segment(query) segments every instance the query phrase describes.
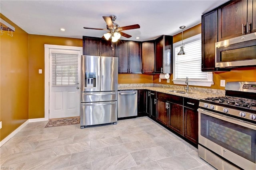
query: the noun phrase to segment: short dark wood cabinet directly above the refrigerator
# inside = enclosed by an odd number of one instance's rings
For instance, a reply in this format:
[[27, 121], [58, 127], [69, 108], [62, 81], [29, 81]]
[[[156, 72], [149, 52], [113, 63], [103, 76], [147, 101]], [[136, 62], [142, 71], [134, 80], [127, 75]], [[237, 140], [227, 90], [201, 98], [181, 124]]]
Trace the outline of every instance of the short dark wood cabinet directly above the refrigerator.
[[114, 57], [111, 41], [96, 37], [83, 36], [83, 55]]

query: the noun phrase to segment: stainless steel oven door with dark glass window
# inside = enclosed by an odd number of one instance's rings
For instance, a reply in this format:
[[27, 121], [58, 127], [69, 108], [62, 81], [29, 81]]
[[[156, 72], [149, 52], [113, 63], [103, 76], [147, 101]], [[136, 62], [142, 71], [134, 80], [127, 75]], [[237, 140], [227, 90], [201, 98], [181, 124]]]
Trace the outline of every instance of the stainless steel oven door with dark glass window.
[[198, 114], [199, 145], [243, 169], [256, 169], [255, 125], [200, 108]]

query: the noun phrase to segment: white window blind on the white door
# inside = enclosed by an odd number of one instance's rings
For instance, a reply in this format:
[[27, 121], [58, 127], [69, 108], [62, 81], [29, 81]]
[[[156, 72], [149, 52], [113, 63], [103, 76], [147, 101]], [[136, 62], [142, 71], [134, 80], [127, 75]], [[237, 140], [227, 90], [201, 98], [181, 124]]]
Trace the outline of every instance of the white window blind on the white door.
[[51, 53], [52, 86], [78, 84], [78, 54]]

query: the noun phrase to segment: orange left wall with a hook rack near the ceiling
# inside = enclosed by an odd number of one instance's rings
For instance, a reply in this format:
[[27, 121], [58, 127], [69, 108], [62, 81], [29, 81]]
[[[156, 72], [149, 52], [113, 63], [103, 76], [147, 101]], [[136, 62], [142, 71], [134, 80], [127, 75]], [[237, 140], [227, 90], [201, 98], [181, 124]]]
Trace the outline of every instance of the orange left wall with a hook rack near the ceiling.
[[0, 141], [28, 119], [28, 33], [15, 27], [13, 37], [0, 35]]

